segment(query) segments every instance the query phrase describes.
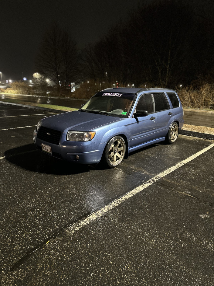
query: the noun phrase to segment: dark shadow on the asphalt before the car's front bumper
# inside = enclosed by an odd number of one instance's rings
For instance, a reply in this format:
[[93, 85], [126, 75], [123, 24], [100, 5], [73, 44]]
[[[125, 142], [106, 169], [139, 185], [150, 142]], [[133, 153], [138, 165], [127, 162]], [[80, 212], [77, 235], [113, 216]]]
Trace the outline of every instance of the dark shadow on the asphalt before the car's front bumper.
[[9, 149], [4, 153], [5, 159], [22, 169], [52, 175], [73, 175], [90, 172], [89, 166], [74, 164], [65, 160], [46, 155], [34, 144]]

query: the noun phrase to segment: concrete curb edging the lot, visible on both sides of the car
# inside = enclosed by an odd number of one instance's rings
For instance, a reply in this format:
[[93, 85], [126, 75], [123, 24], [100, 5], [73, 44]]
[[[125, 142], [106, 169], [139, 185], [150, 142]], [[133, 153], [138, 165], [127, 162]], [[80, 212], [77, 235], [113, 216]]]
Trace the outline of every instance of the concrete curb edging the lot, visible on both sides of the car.
[[[45, 110], [45, 111], [50, 111], [50, 112], [54, 112], [54, 113], [67, 112], [66, 110], [57, 110], [57, 109], [51, 109], [51, 108], [45, 108], [45, 107], [39, 107], [39, 106], [31, 106], [31, 105], [24, 105], [24, 104], [11, 103], [11, 102], [5, 102], [5, 101], [0, 101], [0, 103], [8, 104], [8, 105], [22, 106], [22, 107], [27, 107], [27, 108], [31, 108], [31, 109]], [[212, 135], [212, 134], [199, 133], [199, 132], [195, 132], [195, 131], [181, 130], [179, 132], [179, 134], [197, 137], [197, 138], [208, 139], [208, 140], [214, 140], [214, 135]]]

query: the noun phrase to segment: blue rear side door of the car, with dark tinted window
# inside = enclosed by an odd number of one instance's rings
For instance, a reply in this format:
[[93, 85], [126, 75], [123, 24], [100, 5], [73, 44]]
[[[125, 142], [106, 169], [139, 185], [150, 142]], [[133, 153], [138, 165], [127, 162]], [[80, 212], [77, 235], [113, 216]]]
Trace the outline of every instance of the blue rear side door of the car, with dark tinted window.
[[173, 113], [164, 92], [153, 93], [157, 119], [155, 139], [165, 137], [170, 124], [173, 122]]

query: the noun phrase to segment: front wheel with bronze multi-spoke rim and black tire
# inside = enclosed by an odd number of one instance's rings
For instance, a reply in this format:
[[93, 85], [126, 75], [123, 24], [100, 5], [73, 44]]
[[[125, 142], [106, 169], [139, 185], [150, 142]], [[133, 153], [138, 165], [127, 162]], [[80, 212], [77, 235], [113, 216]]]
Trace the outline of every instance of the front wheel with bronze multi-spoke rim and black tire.
[[108, 167], [114, 168], [122, 162], [125, 153], [126, 143], [123, 137], [114, 136], [108, 141], [104, 149], [103, 161]]

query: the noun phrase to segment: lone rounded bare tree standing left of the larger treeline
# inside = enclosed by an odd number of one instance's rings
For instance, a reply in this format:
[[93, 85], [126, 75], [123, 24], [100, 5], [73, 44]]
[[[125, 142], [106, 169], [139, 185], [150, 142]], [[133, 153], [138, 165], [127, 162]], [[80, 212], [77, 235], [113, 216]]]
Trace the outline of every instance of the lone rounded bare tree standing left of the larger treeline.
[[74, 81], [77, 62], [76, 43], [66, 30], [54, 23], [44, 34], [36, 57], [38, 72], [55, 84], [66, 87]]

